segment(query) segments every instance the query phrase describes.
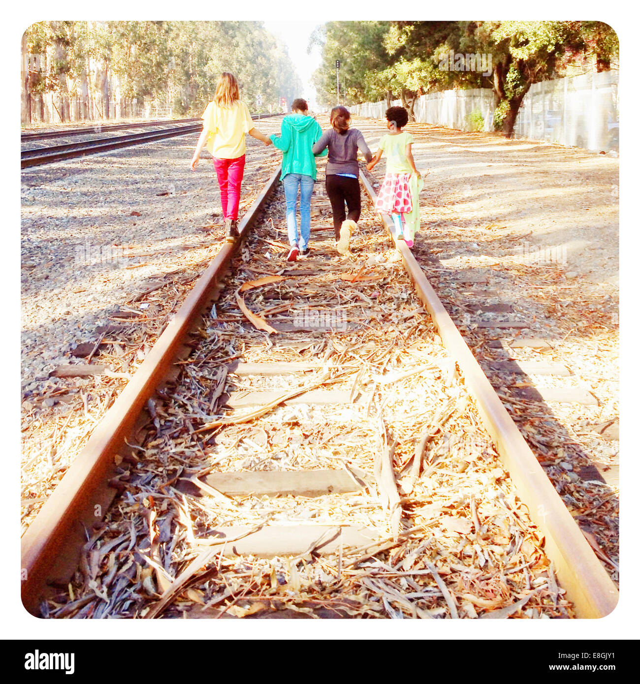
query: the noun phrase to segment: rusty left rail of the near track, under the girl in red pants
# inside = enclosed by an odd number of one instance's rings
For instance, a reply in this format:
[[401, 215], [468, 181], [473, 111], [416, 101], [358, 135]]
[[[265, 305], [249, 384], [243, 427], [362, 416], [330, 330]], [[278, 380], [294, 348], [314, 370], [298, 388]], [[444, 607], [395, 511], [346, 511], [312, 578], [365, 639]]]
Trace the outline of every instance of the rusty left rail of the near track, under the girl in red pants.
[[[280, 170], [279, 166], [242, 218], [238, 225], [241, 238], [248, 233], [272, 194]], [[125, 449], [146, 402], [166, 378], [179, 354], [185, 334], [214, 298], [216, 285], [240, 242], [241, 239], [235, 244], [222, 244], [23, 535], [21, 594], [23, 605], [31, 614], [39, 615], [40, 600], [47, 591], [47, 584], [68, 581], [77, 568], [87, 535], [91, 534], [94, 523], [101, 520], [116, 494], [116, 489], [109, 486], [118, 474], [114, 456]]]

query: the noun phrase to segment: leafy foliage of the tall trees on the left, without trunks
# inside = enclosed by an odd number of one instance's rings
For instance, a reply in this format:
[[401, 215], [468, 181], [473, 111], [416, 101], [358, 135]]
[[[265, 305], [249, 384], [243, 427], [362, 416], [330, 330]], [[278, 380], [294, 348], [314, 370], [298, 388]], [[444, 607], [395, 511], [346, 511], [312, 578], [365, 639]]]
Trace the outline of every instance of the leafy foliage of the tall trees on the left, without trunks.
[[171, 102], [175, 114], [184, 115], [201, 114], [222, 71], [238, 77], [251, 111], [257, 111], [258, 94], [266, 111], [302, 90], [286, 49], [256, 21], [43, 21], [26, 36], [27, 53], [46, 55], [30, 73], [33, 94], [57, 90], [60, 73], [72, 96], [84, 72], [99, 89], [106, 72], [119, 96]]

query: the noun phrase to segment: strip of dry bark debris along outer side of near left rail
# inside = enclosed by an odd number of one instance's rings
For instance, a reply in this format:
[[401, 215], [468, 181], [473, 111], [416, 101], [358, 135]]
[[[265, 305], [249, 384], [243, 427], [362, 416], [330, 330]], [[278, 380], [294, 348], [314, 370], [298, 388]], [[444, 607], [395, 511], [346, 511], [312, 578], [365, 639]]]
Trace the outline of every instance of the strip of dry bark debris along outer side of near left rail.
[[[244, 196], [243, 206], [250, 206], [258, 194], [259, 187], [256, 186], [253, 192]], [[215, 257], [220, 244], [220, 241], [207, 241], [204, 258], [200, 250], [182, 252], [179, 269], [158, 272], [145, 282], [140, 282], [138, 293], [128, 302], [120, 304], [110, 315], [107, 325], [95, 330], [96, 342], [100, 344], [87, 343], [88, 353], [79, 356], [78, 363], [73, 365], [86, 366], [84, 370], [87, 372], [92, 366], [99, 365], [104, 369], [101, 373], [73, 377], [70, 376], [71, 365], [59, 366], [60, 377], [55, 377], [54, 371], [42, 392], [31, 394], [23, 402], [23, 532], [83, 449], [93, 428], [162, 334], [173, 313], [191, 291], [196, 278]], [[67, 356], [75, 354], [71, 352]]]

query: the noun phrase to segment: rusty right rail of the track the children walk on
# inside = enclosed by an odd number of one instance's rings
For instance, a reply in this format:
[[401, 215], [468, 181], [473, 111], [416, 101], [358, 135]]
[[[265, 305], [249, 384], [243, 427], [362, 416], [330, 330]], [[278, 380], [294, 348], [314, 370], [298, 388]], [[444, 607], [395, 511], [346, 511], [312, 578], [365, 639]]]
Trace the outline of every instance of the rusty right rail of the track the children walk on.
[[[360, 177], [375, 203], [376, 193], [370, 181], [363, 174]], [[379, 217], [389, 235], [393, 235], [391, 219], [381, 213]], [[531, 519], [545, 536], [546, 554], [554, 564], [567, 599], [574, 604], [576, 615], [578, 618], [609, 615], [618, 601], [615, 584], [504, 408], [411, 250], [405, 241], [395, 242], [418, 297], [431, 314], [442, 342], [463, 373], [465, 386], [476, 400], [483, 425], [496, 443], [498, 454], [515, 484], [517, 496], [528, 507]]]

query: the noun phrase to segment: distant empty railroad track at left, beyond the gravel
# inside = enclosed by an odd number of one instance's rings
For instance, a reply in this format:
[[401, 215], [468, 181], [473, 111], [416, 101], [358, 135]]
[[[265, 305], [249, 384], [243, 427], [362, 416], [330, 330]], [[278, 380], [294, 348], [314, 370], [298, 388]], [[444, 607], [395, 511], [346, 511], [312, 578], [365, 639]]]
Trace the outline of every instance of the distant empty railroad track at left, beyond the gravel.
[[[281, 115], [272, 114], [270, 116]], [[257, 119], [258, 115], [252, 114], [252, 118]], [[202, 121], [200, 119], [196, 119], [195, 121], [196, 123], [185, 123], [180, 126], [171, 126], [168, 128], [156, 129], [153, 131], [143, 131], [142, 133], [129, 133], [127, 135], [101, 137], [94, 140], [84, 140], [81, 142], [70, 142], [62, 145], [52, 145], [48, 147], [35, 148], [31, 150], [22, 150], [21, 168], [29, 168], [31, 166], [42, 166], [42, 164], [54, 163], [55, 161], [64, 161], [64, 159], [73, 159], [74, 157], [95, 155], [101, 152], [117, 150], [122, 147], [130, 147], [133, 145], [140, 145], [146, 142], [164, 140], [166, 138], [175, 137], [177, 135], [189, 135], [191, 133], [199, 133], [202, 130]], [[131, 128], [131, 126], [129, 126], [129, 128]], [[84, 132], [88, 133], [89, 131]]]

